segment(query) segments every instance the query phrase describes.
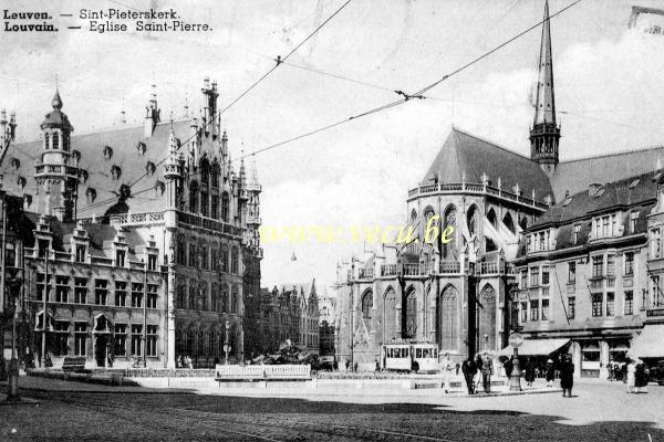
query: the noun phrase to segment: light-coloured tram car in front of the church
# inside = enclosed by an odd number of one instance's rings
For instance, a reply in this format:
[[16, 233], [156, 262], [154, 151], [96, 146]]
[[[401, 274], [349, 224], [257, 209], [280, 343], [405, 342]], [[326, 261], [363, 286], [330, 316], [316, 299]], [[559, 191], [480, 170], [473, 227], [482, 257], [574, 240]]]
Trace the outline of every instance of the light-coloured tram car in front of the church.
[[436, 344], [385, 344], [383, 368], [391, 371], [438, 371]]

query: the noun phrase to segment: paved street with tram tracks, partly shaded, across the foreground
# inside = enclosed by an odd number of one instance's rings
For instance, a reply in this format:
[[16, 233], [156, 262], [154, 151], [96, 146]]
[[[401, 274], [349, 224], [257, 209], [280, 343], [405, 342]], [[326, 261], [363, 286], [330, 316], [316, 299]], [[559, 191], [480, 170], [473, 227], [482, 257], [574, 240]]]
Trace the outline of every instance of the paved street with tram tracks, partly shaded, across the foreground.
[[[39, 406], [0, 408], [0, 440], [496, 441], [664, 440], [664, 388], [625, 394], [584, 382], [575, 397], [325, 394], [271, 398], [123, 392], [31, 391]], [[11, 430], [15, 429], [14, 434]]]

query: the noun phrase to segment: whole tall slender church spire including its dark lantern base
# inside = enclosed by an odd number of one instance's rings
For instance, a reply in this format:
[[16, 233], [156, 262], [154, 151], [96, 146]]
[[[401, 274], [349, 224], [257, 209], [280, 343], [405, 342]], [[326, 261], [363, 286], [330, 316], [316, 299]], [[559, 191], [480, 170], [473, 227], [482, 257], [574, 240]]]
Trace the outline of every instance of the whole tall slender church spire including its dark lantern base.
[[530, 158], [551, 175], [558, 165], [560, 127], [556, 124], [556, 97], [553, 94], [553, 59], [551, 56], [551, 27], [549, 2], [544, 2], [542, 40], [537, 78], [535, 118], [530, 129]]

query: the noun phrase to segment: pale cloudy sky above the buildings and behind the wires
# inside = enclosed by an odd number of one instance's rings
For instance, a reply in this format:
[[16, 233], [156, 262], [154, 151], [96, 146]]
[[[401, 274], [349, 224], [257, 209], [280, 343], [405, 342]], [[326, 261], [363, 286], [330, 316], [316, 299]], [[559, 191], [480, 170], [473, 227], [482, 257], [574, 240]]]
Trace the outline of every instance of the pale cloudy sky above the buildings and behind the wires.
[[[219, 107], [286, 55], [344, 0], [122, 1], [175, 8], [207, 33], [3, 33], [0, 107], [18, 113], [19, 138], [34, 139], [54, 76], [77, 134], [141, 120], [149, 85], [163, 116], [198, 107], [203, 77], [219, 83]], [[571, 0], [552, 0], [551, 13]], [[115, 1], [58, 1], [50, 12], [126, 9]], [[634, 0], [584, 0], [551, 22], [561, 158], [664, 141], [664, 35], [627, 32]], [[657, 1], [640, 0], [656, 7]], [[28, 6], [31, 4], [29, 8]], [[6, 1], [43, 10], [43, 1]], [[279, 67], [222, 116], [234, 156], [298, 136], [414, 92], [541, 20], [543, 0], [353, 0], [289, 60], [366, 84]], [[56, 18], [60, 28], [84, 25]], [[407, 190], [419, 182], [454, 124], [515, 151], [529, 151], [529, 92], [538, 29], [427, 94], [335, 129], [256, 156], [268, 225], [404, 222]], [[128, 147], [127, 147], [128, 148]], [[84, 152], [83, 152], [84, 155]], [[266, 245], [263, 285], [334, 278], [362, 244]], [[292, 255], [297, 261], [291, 261]]]

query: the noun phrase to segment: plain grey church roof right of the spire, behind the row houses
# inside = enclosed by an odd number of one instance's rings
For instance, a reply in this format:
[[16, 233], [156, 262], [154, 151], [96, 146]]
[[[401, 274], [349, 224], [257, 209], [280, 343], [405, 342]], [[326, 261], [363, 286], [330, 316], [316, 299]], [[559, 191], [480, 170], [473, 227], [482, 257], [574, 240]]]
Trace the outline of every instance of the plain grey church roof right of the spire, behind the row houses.
[[577, 193], [591, 183], [603, 185], [645, 173], [663, 164], [664, 147], [562, 161], [551, 177], [551, 186], [556, 201], [561, 201], [566, 191]]

